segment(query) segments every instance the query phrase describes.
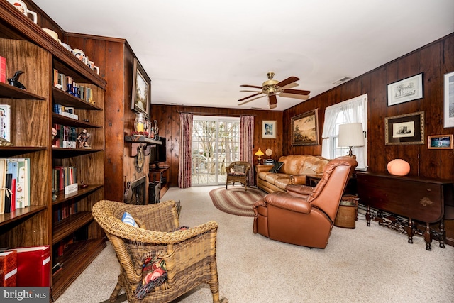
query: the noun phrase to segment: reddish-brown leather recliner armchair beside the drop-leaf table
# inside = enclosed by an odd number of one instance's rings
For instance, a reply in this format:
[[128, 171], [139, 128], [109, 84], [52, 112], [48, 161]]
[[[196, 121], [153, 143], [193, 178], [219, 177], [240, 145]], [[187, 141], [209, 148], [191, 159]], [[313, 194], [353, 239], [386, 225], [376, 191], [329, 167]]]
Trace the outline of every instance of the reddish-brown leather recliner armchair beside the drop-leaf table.
[[328, 162], [316, 187], [288, 185], [253, 204], [254, 233], [285, 243], [325, 248], [345, 186], [357, 162], [339, 157]]

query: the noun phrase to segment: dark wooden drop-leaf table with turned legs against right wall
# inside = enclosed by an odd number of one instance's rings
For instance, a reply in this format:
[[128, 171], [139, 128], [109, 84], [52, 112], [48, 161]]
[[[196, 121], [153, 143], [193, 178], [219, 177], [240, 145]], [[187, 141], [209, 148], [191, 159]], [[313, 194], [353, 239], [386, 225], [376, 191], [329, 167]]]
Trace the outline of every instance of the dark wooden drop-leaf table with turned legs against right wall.
[[[422, 236], [426, 250], [431, 250], [432, 239], [445, 248], [446, 233], [443, 219], [454, 219], [454, 180], [423, 177], [397, 177], [387, 173], [358, 172], [358, 197], [367, 206], [367, 226], [370, 226], [370, 207], [408, 218], [403, 223], [409, 243], [418, 234], [415, 221], [425, 224]], [[440, 222], [439, 233], [429, 224]], [[401, 222], [402, 224], [402, 222]]]

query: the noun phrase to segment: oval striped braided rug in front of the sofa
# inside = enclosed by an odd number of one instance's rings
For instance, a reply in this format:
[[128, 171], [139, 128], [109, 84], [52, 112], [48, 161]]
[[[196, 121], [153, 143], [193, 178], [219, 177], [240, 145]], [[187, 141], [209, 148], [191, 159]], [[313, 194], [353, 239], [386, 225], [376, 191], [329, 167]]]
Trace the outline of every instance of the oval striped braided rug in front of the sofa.
[[210, 197], [220, 211], [236, 216], [254, 216], [253, 203], [265, 197], [265, 194], [260, 189], [251, 187], [247, 191], [244, 187], [221, 187], [211, 190]]

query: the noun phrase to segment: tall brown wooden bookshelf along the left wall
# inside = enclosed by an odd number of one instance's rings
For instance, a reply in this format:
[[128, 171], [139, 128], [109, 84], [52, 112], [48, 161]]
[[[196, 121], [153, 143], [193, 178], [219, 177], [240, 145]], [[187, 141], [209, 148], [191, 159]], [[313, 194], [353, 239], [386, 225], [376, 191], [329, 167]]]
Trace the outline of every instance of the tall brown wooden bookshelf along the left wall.
[[[50, 246], [51, 268], [57, 262], [64, 263], [55, 279], [51, 277], [52, 299], [57, 299], [105, 247], [106, 238], [93, 219], [92, 206], [104, 199], [106, 80], [41, 27], [54, 28], [61, 35], [61, 28], [42, 11], [35, 24], [8, 1], [0, 1], [0, 54], [6, 58], [7, 77], [22, 70], [19, 81], [26, 87], [23, 90], [0, 83], [0, 104], [11, 106], [12, 118], [12, 145], [1, 146], [0, 153], [1, 158], [30, 158], [31, 163], [31, 205], [0, 214], [0, 247]], [[54, 69], [92, 89], [93, 103], [54, 87]], [[79, 119], [53, 114], [54, 104], [73, 107]], [[87, 128], [92, 148], [52, 148], [53, 124], [76, 127], [77, 133]], [[88, 187], [70, 195], [57, 192], [53, 200], [55, 166], [77, 167], [77, 182]], [[71, 204], [77, 204], [77, 212], [54, 221], [55, 211]], [[68, 238], [77, 243], [57, 256], [60, 241]]]

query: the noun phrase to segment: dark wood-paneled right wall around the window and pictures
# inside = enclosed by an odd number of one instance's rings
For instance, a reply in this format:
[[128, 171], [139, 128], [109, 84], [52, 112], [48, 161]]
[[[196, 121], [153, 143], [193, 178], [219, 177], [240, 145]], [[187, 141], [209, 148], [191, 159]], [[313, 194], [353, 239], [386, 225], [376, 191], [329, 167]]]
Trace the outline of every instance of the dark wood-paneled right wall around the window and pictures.
[[[311, 109], [319, 109], [319, 140], [327, 106], [367, 94], [368, 165], [369, 171], [386, 172], [387, 163], [402, 158], [410, 163], [410, 175], [452, 179], [454, 177], [453, 150], [429, 150], [428, 135], [454, 133], [454, 128], [443, 128], [443, 75], [454, 71], [454, 33], [418, 50], [393, 60], [375, 70], [312, 97], [284, 111], [284, 155], [321, 155], [321, 145], [291, 145], [292, 116]], [[387, 84], [423, 73], [423, 99], [387, 106]], [[385, 145], [384, 118], [424, 111], [424, 144]], [[281, 128], [282, 129], [282, 128]]]

